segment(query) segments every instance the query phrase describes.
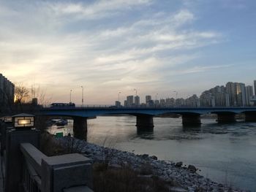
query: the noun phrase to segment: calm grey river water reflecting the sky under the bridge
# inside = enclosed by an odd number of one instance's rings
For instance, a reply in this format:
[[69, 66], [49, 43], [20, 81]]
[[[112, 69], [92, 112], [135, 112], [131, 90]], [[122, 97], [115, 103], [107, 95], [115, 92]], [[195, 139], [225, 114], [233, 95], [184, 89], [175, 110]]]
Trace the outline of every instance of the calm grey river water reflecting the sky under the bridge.
[[[256, 123], [201, 121], [200, 127], [183, 127], [181, 118], [154, 118], [153, 132], [138, 133], [133, 116], [101, 116], [88, 120], [87, 140], [193, 164], [199, 174], [211, 180], [256, 191]], [[57, 131], [67, 134], [72, 131], [72, 122]]]

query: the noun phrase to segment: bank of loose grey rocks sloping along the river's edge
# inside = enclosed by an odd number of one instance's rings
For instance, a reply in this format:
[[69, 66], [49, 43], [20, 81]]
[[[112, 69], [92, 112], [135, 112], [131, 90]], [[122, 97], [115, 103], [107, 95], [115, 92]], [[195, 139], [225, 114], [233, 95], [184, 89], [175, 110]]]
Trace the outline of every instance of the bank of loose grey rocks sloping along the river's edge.
[[[70, 137], [58, 139], [61, 145], [67, 147], [71, 145]], [[182, 162], [167, 162], [158, 160], [156, 156], [147, 154], [135, 155], [127, 151], [94, 145], [79, 139], [72, 140], [72, 148], [82, 153], [93, 162], [105, 161], [113, 168], [121, 168], [129, 165], [132, 169], [141, 170], [141, 167], [152, 169], [152, 174], [165, 181], [176, 183], [176, 187], [171, 187], [170, 191], [243, 191], [238, 188], [231, 188], [220, 183], [215, 183], [206, 177], [197, 174], [197, 168], [193, 165], [183, 166]], [[151, 173], [148, 173], [148, 177]], [[144, 177], [147, 177], [144, 175]]]

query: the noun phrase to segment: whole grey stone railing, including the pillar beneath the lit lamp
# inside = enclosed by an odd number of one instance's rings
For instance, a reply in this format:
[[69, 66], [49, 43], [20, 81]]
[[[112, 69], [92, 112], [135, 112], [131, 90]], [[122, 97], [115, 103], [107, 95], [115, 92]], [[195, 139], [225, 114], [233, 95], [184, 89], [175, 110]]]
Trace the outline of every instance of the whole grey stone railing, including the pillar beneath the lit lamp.
[[78, 153], [48, 157], [38, 150], [39, 133], [1, 123], [4, 191], [91, 192], [91, 159]]

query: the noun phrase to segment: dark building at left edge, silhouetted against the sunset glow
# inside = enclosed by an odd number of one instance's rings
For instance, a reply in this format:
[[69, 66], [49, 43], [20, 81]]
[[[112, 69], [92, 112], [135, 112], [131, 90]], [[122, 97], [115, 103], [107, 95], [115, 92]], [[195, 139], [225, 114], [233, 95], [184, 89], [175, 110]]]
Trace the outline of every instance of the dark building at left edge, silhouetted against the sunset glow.
[[0, 104], [7, 106], [13, 104], [15, 94], [15, 85], [4, 75], [0, 74]]

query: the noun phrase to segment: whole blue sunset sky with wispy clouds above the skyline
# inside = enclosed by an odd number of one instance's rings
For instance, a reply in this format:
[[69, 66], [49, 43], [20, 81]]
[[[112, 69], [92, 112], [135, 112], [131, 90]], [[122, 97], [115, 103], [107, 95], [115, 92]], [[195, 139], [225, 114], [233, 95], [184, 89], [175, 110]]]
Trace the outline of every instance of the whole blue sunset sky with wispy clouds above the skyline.
[[[0, 73], [50, 102], [198, 96], [256, 80], [255, 0], [0, 0]], [[72, 90], [72, 91], [70, 91]]]

